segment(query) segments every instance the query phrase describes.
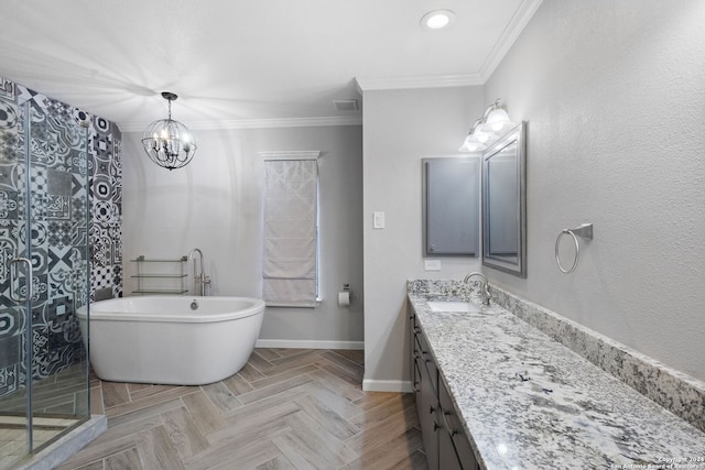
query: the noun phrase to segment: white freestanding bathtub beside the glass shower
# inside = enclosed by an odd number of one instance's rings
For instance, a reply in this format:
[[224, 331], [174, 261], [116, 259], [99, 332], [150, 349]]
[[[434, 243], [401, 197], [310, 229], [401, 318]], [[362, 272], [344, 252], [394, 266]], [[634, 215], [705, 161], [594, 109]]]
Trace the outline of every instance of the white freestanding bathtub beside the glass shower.
[[[247, 297], [143, 296], [100, 300], [77, 310], [90, 363], [107, 381], [203, 385], [247, 363], [264, 302]], [[87, 331], [88, 324], [90, 331]]]

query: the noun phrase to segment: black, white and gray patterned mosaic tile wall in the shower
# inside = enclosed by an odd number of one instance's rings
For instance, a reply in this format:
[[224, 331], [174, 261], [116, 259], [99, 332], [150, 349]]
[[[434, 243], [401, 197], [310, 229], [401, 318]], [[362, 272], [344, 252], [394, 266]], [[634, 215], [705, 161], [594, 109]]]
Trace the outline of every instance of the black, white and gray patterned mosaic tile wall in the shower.
[[[89, 122], [87, 130], [80, 121]], [[85, 360], [76, 308], [98, 289], [122, 295], [120, 156], [116, 124], [0, 78], [0, 396], [26, 381], [26, 328], [32, 331], [32, 376], [50, 376]], [[10, 298], [9, 278], [10, 260], [26, 255], [26, 223], [31, 324]]]

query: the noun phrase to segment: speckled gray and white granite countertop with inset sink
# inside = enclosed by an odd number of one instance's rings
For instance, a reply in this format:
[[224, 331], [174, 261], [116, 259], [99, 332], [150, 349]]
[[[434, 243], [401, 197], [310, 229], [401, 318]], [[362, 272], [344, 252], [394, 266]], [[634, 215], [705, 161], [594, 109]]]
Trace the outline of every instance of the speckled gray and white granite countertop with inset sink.
[[409, 299], [482, 468], [705, 469], [705, 433], [510, 311]]

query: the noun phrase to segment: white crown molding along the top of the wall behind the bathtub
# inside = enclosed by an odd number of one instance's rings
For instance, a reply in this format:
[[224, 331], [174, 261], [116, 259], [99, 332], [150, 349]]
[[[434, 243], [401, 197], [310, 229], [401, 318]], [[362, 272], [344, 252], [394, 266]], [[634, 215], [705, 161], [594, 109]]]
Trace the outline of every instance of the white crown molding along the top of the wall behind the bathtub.
[[[122, 132], [142, 132], [148, 125], [149, 122], [118, 123], [118, 127]], [[193, 131], [227, 129], [314, 128], [325, 125], [362, 125], [362, 117], [360, 114], [356, 114], [318, 118], [267, 118], [225, 121], [189, 121], [187, 127]]]

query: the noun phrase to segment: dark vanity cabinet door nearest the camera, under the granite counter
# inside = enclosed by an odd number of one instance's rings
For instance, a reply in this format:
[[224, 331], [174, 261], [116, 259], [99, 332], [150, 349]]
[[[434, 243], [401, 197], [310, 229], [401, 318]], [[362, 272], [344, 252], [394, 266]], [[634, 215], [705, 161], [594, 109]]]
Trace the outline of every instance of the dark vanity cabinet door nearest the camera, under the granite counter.
[[465, 436], [460, 419], [457, 416], [451, 395], [443, 381], [438, 384], [438, 459], [443, 470], [479, 469], [470, 442]]

